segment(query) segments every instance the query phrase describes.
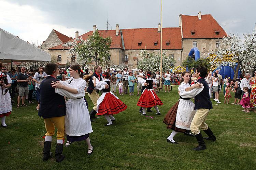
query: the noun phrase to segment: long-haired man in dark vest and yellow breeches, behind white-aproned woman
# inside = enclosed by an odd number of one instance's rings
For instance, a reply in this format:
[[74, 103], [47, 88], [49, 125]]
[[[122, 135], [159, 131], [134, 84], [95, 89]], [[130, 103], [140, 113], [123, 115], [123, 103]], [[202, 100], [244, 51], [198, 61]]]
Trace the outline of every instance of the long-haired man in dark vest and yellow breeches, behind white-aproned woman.
[[[99, 81], [102, 81], [102, 77], [101, 77], [101, 71], [102, 68], [99, 65], [94, 66], [94, 73], [92, 75], [90, 75], [90, 79], [89, 79], [89, 86], [87, 88], [87, 93], [89, 98], [91, 99], [91, 101], [94, 104], [93, 109], [91, 109], [90, 111], [90, 120], [91, 122], [93, 122], [96, 117], [96, 110], [97, 110], [97, 100], [100, 98], [99, 96], [99, 90], [97, 89], [97, 87], [94, 87], [94, 83], [93, 83], [93, 77], [95, 76]], [[105, 88], [108, 88], [109, 85], [105, 85]]]

